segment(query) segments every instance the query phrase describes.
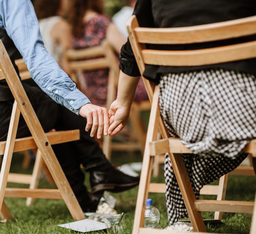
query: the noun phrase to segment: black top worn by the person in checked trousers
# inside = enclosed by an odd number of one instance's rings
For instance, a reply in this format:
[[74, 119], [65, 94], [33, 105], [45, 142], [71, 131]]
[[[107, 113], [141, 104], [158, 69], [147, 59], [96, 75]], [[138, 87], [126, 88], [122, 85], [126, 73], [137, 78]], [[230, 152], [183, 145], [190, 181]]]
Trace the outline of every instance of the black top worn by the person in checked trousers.
[[[255, 0], [137, 0], [134, 8], [140, 27], [187, 27], [211, 24], [256, 15]], [[256, 40], [256, 35], [215, 42], [188, 45], [147, 45], [149, 49], [191, 50], [237, 44]], [[120, 69], [127, 75], [139, 76], [129, 40], [120, 54]], [[215, 65], [175, 67], [146, 65], [144, 76], [159, 82], [160, 73], [195, 71], [206, 68], [224, 68], [247, 72], [256, 76], [256, 59], [219, 63]]]

